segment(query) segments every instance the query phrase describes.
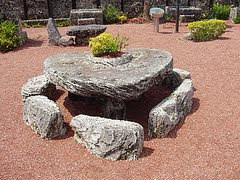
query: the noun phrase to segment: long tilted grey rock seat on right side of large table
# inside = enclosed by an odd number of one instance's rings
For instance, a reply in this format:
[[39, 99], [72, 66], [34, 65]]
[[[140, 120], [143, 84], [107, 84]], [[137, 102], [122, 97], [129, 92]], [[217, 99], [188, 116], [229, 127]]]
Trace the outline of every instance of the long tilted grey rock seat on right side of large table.
[[149, 136], [165, 137], [192, 109], [192, 80], [186, 79], [171, 94], [154, 107], [148, 119]]

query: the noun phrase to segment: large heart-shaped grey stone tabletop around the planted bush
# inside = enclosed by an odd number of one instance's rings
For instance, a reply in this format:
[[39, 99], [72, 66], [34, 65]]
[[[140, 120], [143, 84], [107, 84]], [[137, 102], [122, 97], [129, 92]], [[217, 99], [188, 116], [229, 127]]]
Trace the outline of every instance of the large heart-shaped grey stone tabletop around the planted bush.
[[66, 53], [45, 60], [45, 74], [55, 85], [85, 96], [119, 100], [138, 98], [172, 71], [173, 58], [157, 49], [129, 49], [117, 58], [90, 52]]

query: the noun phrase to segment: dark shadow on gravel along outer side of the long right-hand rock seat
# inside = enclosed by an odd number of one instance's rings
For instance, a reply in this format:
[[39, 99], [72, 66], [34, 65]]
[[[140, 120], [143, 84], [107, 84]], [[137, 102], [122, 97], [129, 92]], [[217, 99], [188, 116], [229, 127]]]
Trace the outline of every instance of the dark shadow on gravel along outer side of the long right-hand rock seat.
[[[193, 98], [192, 110], [188, 115], [195, 113], [200, 107], [200, 100], [198, 98]], [[166, 138], [176, 138], [178, 130], [185, 124], [185, 119], [180, 121], [178, 125], [166, 136]]]

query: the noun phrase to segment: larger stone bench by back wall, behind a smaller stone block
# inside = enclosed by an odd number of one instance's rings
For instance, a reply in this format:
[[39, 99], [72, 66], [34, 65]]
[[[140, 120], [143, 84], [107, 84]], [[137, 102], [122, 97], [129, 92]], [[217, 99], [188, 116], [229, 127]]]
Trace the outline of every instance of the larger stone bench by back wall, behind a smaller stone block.
[[72, 9], [70, 12], [71, 25], [78, 25], [78, 19], [95, 18], [96, 24], [103, 24], [103, 11], [101, 9]]

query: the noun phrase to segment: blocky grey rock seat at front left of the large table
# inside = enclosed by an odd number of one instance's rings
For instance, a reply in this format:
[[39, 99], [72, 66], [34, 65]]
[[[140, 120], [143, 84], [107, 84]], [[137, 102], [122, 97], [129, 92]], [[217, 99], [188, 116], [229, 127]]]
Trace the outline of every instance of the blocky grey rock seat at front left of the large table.
[[62, 113], [57, 105], [45, 96], [31, 96], [26, 99], [24, 121], [44, 139], [66, 134]]

